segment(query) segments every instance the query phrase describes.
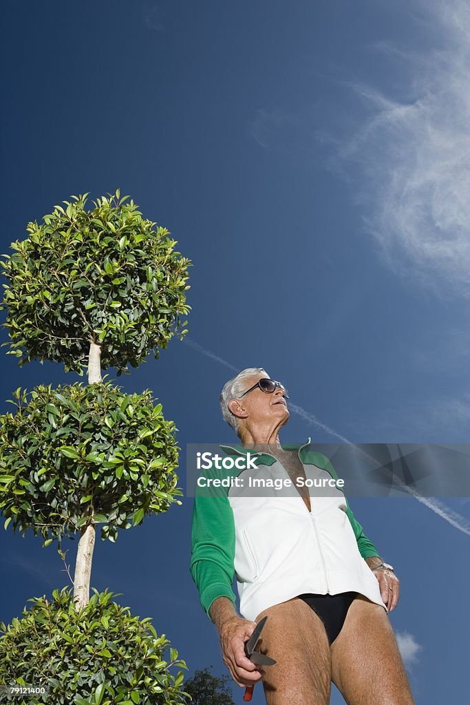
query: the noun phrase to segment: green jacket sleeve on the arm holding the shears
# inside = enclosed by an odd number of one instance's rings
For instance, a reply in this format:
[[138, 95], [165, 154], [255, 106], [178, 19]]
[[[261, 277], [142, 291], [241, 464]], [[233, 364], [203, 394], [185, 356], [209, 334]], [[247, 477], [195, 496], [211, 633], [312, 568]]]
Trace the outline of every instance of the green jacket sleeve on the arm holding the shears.
[[[209, 616], [218, 597], [228, 597], [235, 606], [235, 525], [228, 497], [223, 490], [201, 496], [196, 490], [192, 512], [190, 572], [199, 599]], [[207, 494], [207, 492], [206, 492]]]

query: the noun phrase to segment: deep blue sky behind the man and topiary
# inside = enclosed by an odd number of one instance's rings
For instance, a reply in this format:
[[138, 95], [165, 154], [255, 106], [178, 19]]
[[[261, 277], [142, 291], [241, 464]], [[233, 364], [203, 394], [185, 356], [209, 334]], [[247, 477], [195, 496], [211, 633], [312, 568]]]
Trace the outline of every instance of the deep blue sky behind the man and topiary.
[[[285, 381], [285, 442], [468, 441], [466, 3], [7, 0], [3, 15], [1, 252], [71, 194], [120, 188], [192, 259], [187, 342], [107, 371], [175, 421], [182, 484], [186, 443], [233, 441], [218, 394], [244, 367]], [[4, 411], [18, 386], [78, 379], [6, 355], [3, 370]], [[390, 620], [416, 703], [463, 701], [468, 499], [351, 504], [402, 581]], [[224, 673], [187, 567], [191, 509], [99, 541], [92, 584], [151, 616], [191, 672]], [[8, 621], [68, 579], [32, 534], [1, 542]]]

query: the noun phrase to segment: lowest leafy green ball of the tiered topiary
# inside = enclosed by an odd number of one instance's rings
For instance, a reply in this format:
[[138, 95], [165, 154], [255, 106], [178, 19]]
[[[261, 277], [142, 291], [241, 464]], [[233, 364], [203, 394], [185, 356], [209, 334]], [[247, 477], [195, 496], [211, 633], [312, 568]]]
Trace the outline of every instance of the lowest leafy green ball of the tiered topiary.
[[[170, 672], [185, 662], [175, 649], [166, 660], [165, 635], [156, 634], [150, 618], [140, 620], [113, 602], [119, 593], [94, 593], [77, 613], [70, 588], [54, 590], [51, 602], [44, 596], [28, 600], [32, 606], [22, 620], [0, 623], [0, 675], [17, 674], [18, 686], [37, 684], [39, 692], [23, 700], [27, 705], [186, 703], [183, 671]], [[4, 691], [2, 701], [18, 704], [18, 694]]]

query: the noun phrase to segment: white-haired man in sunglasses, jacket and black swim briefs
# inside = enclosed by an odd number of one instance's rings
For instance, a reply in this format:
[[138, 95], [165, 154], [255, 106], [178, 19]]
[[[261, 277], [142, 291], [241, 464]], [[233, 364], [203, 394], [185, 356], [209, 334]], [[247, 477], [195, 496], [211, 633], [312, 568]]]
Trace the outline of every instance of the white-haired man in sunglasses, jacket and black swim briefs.
[[[388, 620], [399, 580], [340, 489], [309, 491], [308, 479], [338, 480], [328, 458], [309, 443], [281, 446], [286, 398], [285, 387], [262, 368], [230, 379], [221, 409], [241, 445], [223, 450], [234, 458], [256, 450], [256, 470], [235, 472], [240, 484], [267, 471], [290, 479], [291, 495], [275, 488], [260, 496], [238, 484], [219, 486], [211, 496], [199, 491], [194, 500], [190, 570], [218, 629], [223, 661], [238, 685], [262, 680], [268, 705], [328, 704], [332, 681], [348, 705], [412, 705]], [[235, 575], [242, 616], [231, 587]], [[263, 669], [245, 656], [244, 642], [265, 615], [256, 648], [277, 663]]]

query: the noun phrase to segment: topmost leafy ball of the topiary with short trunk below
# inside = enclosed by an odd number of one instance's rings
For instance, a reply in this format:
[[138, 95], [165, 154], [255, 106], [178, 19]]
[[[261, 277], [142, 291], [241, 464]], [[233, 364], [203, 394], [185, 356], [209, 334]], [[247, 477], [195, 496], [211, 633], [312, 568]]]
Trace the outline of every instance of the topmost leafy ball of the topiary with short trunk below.
[[190, 262], [119, 190], [88, 211], [87, 195], [28, 223], [29, 238], [11, 243], [16, 254], [0, 263], [9, 279], [0, 310], [8, 309], [10, 334], [2, 345], [20, 367], [51, 360], [82, 375], [88, 366], [92, 382], [101, 369], [119, 376], [150, 351], [159, 357], [174, 333], [184, 336]]

